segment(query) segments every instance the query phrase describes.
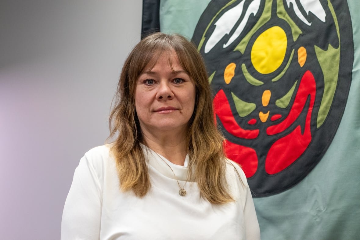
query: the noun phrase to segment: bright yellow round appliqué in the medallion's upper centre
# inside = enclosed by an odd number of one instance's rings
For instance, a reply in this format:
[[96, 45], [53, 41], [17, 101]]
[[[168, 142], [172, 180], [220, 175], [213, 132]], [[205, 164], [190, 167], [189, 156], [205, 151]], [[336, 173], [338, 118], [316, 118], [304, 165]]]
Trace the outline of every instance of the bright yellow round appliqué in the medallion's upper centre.
[[284, 61], [287, 47], [285, 31], [279, 27], [271, 27], [262, 32], [251, 49], [251, 62], [256, 71], [269, 74], [280, 67]]

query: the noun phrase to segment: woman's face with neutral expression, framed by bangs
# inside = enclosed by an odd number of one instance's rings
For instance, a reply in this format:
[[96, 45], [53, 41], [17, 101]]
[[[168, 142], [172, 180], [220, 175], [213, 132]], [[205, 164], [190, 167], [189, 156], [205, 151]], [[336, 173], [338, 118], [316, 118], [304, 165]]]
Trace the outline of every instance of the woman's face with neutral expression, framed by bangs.
[[140, 74], [135, 108], [142, 131], [186, 131], [194, 105], [194, 81], [181, 67], [174, 51], [163, 53], [153, 68], [147, 66]]

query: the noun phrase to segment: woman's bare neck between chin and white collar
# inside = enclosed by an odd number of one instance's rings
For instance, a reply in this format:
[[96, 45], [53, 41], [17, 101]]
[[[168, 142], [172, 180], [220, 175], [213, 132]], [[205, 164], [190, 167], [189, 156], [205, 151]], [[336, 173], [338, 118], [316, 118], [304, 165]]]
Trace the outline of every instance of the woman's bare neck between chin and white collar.
[[170, 162], [184, 166], [188, 148], [185, 146], [185, 133], [150, 132], [141, 129], [144, 143], [151, 150], [162, 155]]

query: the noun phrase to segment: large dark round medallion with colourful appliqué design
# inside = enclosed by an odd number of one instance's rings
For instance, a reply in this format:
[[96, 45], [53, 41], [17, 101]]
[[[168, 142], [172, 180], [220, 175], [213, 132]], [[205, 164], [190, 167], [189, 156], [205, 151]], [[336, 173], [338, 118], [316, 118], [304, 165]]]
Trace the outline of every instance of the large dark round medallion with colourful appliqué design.
[[280, 193], [321, 160], [354, 59], [346, 1], [212, 0], [194, 31], [215, 120], [253, 196]]

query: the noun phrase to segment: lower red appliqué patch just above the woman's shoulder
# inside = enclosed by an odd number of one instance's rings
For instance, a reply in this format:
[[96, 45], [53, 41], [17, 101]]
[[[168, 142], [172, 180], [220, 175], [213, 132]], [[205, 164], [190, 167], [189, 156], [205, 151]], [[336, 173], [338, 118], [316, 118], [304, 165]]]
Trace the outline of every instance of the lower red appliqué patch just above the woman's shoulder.
[[257, 169], [256, 151], [252, 148], [224, 141], [226, 157], [240, 164], [247, 178], [252, 177]]

